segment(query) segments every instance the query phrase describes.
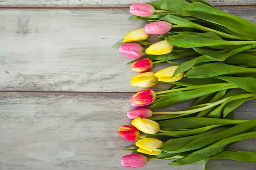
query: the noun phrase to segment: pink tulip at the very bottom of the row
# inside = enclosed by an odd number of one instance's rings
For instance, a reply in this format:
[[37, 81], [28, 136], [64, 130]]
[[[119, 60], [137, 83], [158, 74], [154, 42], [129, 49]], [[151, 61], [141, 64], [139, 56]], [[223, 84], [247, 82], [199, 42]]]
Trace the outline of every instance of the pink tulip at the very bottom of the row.
[[141, 154], [131, 154], [122, 157], [121, 164], [124, 167], [143, 167], [147, 163], [147, 157]]

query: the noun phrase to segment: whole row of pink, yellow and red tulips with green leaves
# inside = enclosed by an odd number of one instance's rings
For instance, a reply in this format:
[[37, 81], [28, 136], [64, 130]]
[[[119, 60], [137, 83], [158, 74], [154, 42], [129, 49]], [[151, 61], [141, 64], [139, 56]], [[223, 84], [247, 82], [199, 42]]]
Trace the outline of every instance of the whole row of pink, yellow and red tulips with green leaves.
[[[117, 132], [137, 141], [137, 147], [125, 148], [134, 154], [124, 156], [121, 164], [141, 167], [157, 159], [175, 159], [170, 165], [206, 159], [256, 162], [256, 153], [225, 148], [256, 137], [256, 119], [234, 120], [232, 114], [256, 99], [256, 25], [205, 0], [134, 3], [130, 12], [129, 19], [149, 22], [114, 45], [121, 54], [137, 58], [128, 63], [141, 73], [132, 77], [131, 85], [151, 88], [165, 83], [170, 88], [131, 96], [131, 105], [140, 107], [127, 112], [134, 126], [121, 126]], [[159, 41], [148, 41], [150, 34], [157, 34]], [[173, 61], [181, 58], [182, 63]], [[161, 62], [170, 67], [148, 72]], [[152, 111], [191, 99], [191, 107], [181, 111]], [[178, 138], [163, 141], [156, 136]]]

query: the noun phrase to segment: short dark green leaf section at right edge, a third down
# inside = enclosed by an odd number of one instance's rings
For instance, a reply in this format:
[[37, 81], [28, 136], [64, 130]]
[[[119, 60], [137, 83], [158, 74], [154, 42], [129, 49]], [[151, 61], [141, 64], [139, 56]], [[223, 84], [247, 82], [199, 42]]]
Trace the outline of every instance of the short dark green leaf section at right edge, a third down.
[[225, 59], [224, 63], [232, 65], [256, 66], [256, 55], [250, 53], [239, 53]]

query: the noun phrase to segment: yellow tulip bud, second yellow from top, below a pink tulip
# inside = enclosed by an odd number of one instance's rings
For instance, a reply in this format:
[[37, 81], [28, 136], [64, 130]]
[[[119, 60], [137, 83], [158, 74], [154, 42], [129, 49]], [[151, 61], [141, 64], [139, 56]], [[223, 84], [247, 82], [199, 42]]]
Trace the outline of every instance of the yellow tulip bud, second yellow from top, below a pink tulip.
[[173, 49], [172, 44], [169, 44], [166, 41], [160, 41], [150, 45], [147, 48], [146, 53], [150, 55], [162, 55], [162, 54], [168, 54], [172, 52], [172, 49]]

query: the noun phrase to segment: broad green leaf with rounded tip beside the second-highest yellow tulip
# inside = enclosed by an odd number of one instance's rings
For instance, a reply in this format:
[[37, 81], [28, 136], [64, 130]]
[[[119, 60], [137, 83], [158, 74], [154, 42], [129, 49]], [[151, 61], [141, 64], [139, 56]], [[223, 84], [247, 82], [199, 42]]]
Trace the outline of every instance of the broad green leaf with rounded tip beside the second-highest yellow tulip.
[[204, 38], [198, 35], [180, 34], [166, 38], [166, 42], [169, 44], [182, 47], [182, 48], [195, 48], [195, 47], [207, 47], [217, 45], [250, 45], [256, 43], [256, 41], [226, 41], [226, 40], [213, 40]]

